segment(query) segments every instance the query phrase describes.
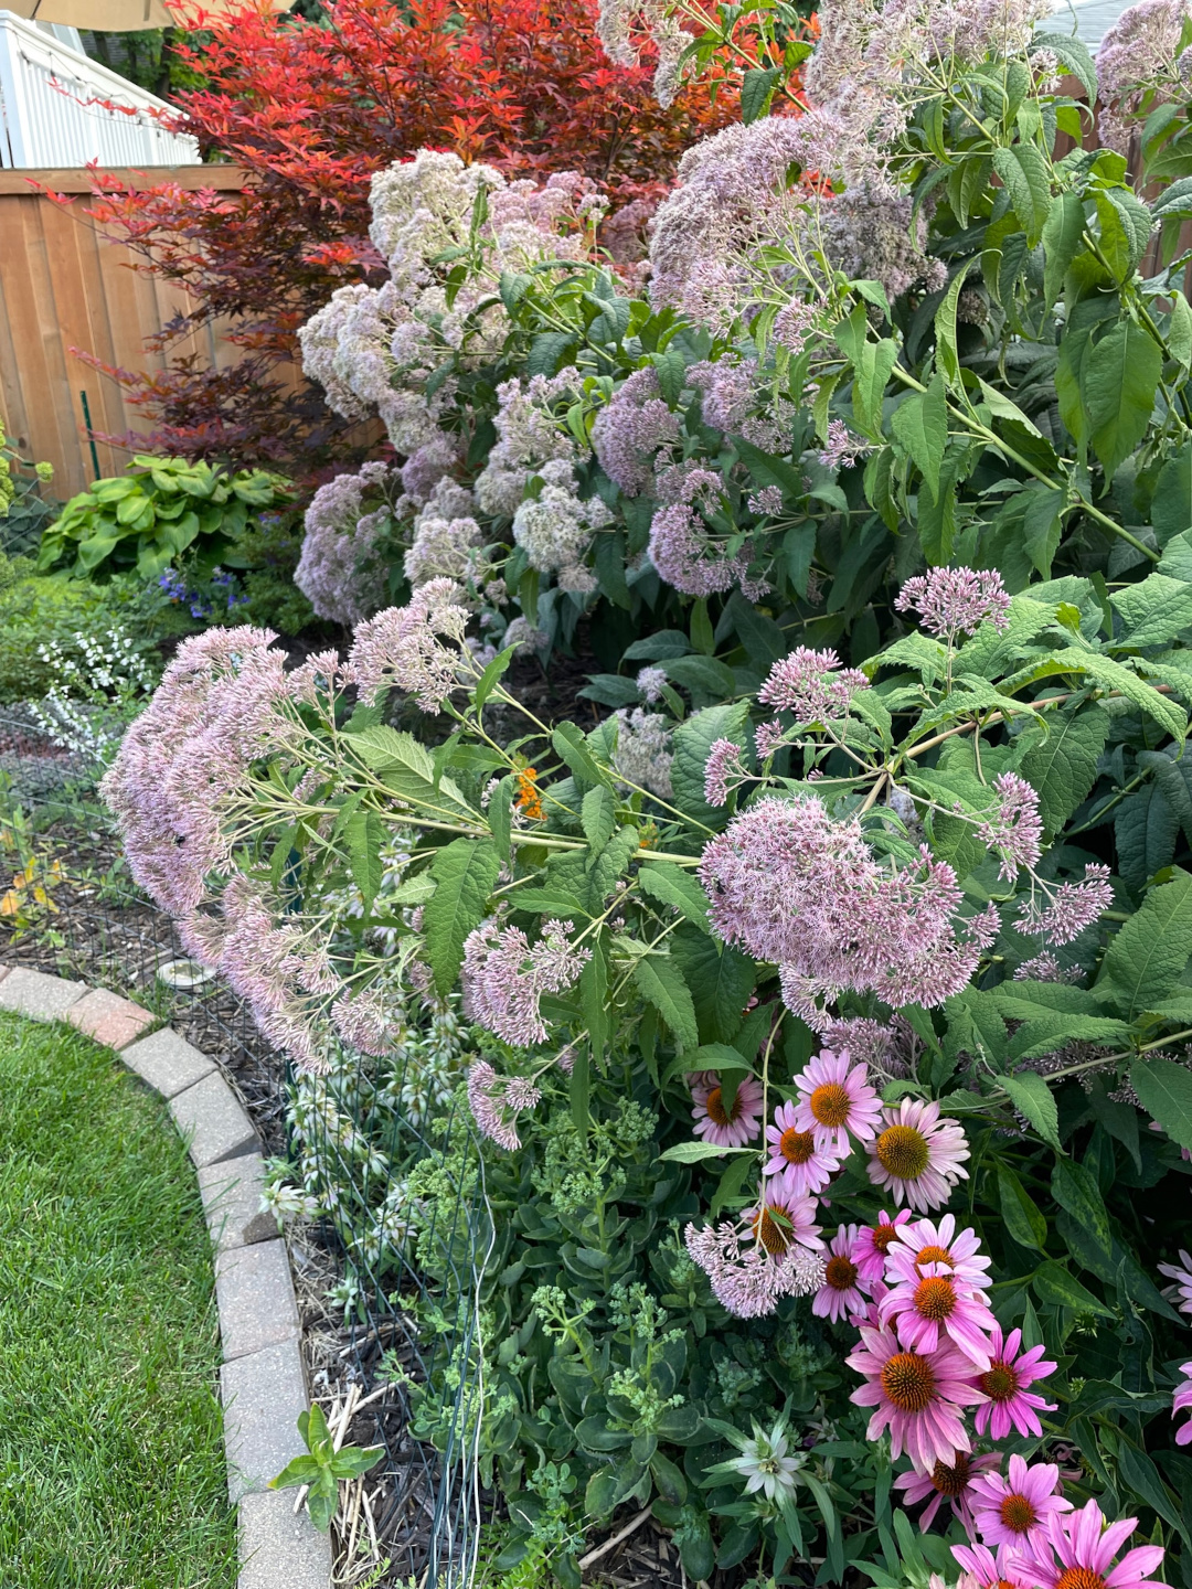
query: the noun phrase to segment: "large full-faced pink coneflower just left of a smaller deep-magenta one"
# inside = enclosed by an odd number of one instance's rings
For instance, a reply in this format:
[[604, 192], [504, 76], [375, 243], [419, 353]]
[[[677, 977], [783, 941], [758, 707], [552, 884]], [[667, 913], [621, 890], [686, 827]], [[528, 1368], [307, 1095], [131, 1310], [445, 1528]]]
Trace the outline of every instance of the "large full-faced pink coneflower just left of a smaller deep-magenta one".
[[890, 1330], [861, 1325], [861, 1347], [847, 1362], [868, 1381], [852, 1400], [874, 1408], [869, 1440], [888, 1427], [892, 1454], [906, 1452], [920, 1473], [969, 1449], [963, 1408], [985, 1395], [973, 1363], [950, 1341], [935, 1352], [908, 1352]]

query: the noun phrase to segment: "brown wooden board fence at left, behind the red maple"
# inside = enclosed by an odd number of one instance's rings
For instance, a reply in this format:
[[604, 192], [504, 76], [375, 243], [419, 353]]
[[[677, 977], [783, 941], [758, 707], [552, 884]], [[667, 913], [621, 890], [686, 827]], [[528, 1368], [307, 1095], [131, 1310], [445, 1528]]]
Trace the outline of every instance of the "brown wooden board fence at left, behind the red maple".
[[[130, 186], [164, 180], [223, 191], [243, 186], [240, 170], [221, 165], [114, 175]], [[64, 208], [27, 178], [65, 194], [87, 194], [91, 181], [86, 170], [0, 172], [0, 418], [24, 458], [54, 466], [52, 493], [68, 497], [95, 478], [84, 392], [95, 431], [119, 435], [146, 423], [113, 380], [70, 350], [129, 370], [164, 369], [165, 358], [148, 353], [145, 338], [192, 302], [184, 291], [132, 270], [127, 249], [105, 242], [83, 215], [86, 199]], [[188, 335], [175, 351], [211, 365], [234, 364], [238, 356], [218, 326]], [[127, 462], [127, 454], [102, 442], [95, 454], [100, 475], [119, 474]]]

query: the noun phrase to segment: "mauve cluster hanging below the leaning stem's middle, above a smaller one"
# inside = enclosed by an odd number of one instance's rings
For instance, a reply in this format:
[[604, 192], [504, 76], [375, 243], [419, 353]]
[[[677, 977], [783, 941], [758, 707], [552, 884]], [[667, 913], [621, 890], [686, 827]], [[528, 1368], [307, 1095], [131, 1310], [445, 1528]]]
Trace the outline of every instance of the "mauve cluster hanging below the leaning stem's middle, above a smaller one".
[[544, 922], [532, 947], [520, 926], [502, 926], [497, 918], [474, 928], [459, 972], [467, 1019], [515, 1049], [545, 1042], [542, 995], [564, 993], [591, 958], [591, 950], [571, 942], [572, 925]]

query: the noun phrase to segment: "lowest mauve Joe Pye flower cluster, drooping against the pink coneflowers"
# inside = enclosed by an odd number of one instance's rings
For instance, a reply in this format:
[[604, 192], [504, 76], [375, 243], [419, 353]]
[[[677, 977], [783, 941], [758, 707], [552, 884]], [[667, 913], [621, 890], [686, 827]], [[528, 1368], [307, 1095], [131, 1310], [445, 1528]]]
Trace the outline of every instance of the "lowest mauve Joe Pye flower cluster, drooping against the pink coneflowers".
[[[777, 1211], [779, 1201], [771, 1198], [769, 1206]], [[687, 1251], [707, 1274], [714, 1297], [737, 1319], [760, 1319], [774, 1313], [780, 1297], [807, 1297], [823, 1281], [822, 1252], [795, 1239], [793, 1224], [790, 1233], [784, 1230], [790, 1208], [784, 1201], [779, 1219], [772, 1214], [763, 1219], [752, 1209], [736, 1222], [722, 1220], [702, 1230], [690, 1224], [683, 1231]], [[804, 1220], [804, 1235], [812, 1228]]]

